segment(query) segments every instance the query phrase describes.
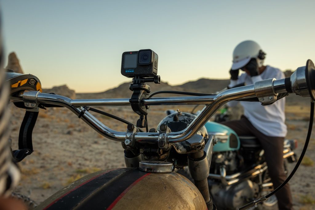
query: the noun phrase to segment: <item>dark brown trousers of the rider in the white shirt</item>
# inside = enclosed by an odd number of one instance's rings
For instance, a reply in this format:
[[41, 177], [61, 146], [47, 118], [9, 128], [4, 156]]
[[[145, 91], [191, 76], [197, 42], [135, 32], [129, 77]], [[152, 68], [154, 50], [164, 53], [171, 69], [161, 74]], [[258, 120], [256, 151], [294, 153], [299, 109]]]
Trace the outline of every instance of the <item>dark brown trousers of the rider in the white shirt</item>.
[[[258, 138], [262, 148], [265, 150], [268, 172], [276, 189], [286, 179], [283, 167], [283, 142], [284, 137], [270, 137], [257, 130], [245, 117], [240, 120], [222, 122], [222, 124], [232, 128], [238, 135], [253, 135]], [[292, 196], [289, 184], [276, 193], [280, 210], [291, 210]]]

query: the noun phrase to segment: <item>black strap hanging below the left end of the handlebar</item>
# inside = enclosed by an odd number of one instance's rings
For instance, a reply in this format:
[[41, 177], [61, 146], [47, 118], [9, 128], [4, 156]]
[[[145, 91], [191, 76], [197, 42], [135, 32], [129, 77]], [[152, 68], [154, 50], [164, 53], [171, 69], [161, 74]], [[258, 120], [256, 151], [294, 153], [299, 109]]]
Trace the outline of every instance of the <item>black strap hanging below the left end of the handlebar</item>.
[[20, 162], [33, 152], [32, 132], [38, 112], [26, 111], [19, 133], [19, 149], [12, 151], [14, 162]]

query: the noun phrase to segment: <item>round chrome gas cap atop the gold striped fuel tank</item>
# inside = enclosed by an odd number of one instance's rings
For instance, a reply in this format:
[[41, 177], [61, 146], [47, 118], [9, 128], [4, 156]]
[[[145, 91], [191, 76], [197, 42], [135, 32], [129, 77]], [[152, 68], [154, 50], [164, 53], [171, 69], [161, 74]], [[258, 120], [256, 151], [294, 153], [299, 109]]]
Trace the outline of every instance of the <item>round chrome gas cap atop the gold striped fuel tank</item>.
[[163, 161], [140, 161], [140, 171], [154, 172], [154, 173], [166, 173], [171, 172], [173, 164], [171, 162]]

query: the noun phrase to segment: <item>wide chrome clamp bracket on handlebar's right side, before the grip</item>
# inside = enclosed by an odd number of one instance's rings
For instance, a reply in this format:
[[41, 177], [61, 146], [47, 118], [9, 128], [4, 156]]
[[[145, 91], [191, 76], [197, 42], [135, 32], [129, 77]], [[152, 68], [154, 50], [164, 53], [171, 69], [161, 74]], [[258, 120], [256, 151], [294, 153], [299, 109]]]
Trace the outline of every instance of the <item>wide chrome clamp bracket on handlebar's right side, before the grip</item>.
[[262, 105], [269, 105], [277, 100], [278, 94], [273, 88], [275, 78], [255, 82], [255, 94]]

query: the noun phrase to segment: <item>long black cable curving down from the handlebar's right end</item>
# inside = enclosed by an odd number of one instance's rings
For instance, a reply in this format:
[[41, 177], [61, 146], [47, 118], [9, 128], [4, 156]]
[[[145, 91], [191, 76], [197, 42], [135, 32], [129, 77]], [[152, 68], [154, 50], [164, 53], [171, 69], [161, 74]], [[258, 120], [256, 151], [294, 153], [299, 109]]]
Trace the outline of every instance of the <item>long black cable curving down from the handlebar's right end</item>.
[[253, 207], [255, 205], [257, 205], [258, 203], [267, 200], [269, 197], [271, 197], [272, 195], [274, 195], [275, 193], [277, 193], [285, 184], [287, 184], [289, 182], [289, 180], [293, 177], [294, 173], [296, 172], [297, 168], [300, 166], [302, 159], [305, 155], [308, 143], [310, 141], [311, 138], [311, 133], [312, 133], [312, 128], [313, 128], [313, 120], [314, 120], [314, 101], [311, 101], [311, 111], [310, 111], [310, 122], [308, 125], [308, 131], [307, 131], [307, 135], [306, 135], [306, 140], [305, 140], [305, 144], [303, 147], [303, 150], [301, 152], [301, 156], [299, 158], [299, 160], [296, 162], [295, 167], [293, 168], [292, 172], [290, 173], [290, 175], [288, 176], [288, 178], [282, 183], [280, 184], [280, 186], [278, 186], [275, 190], [273, 190], [271, 193], [269, 193], [266, 196], [263, 196], [261, 198], [259, 198], [256, 201], [252, 201], [248, 204], [246, 204], [245, 206], [242, 206], [240, 208], [238, 208], [238, 210], [242, 210], [242, 209], [247, 209], [249, 207]]

